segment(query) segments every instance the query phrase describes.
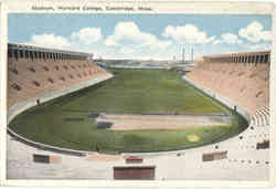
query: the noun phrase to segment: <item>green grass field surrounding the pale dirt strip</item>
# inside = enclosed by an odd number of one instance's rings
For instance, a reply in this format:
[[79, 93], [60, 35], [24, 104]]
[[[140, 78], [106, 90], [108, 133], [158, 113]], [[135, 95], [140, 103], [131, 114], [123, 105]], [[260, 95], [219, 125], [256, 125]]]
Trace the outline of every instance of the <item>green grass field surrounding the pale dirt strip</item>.
[[[215, 143], [237, 135], [247, 123], [240, 115], [182, 82], [174, 71], [114, 70], [115, 77], [18, 115], [9, 125], [40, 143], [102, 153], [161, 151]], [[226, 113], [229, 126], [179, 130], [98, 129], [96, 113]], [[74, 119], [74, 120], [68, 120]], [[197, 140], [189, 140], [193, 136]], [[195, 137], [194, 137], [195, 136]]]

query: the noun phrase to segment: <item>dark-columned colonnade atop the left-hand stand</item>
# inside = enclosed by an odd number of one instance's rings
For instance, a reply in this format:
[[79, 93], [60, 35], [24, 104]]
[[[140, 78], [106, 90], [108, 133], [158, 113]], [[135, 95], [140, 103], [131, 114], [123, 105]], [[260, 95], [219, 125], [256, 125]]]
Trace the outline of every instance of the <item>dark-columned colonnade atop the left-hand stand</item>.
[[87, 60], [93, 59], [91, 53], [72, 52], [54, 49], [44, 49], [33, 45], [8, 44], [8, 56], [18, 59], [43, 60]]

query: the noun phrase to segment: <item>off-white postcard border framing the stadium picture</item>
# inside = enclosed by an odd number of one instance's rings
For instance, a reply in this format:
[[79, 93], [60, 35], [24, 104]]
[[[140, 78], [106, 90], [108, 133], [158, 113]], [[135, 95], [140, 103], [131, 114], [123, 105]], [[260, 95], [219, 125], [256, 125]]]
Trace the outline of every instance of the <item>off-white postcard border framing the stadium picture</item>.
[[[135, 12], [124, 12], [124, 11], [108, 11], [102, 13], [202, 13], [202, 14], [220, 14], [220, 13], [231, 13], [231, 14], [273, 14], [273, 46], [276, 40], [276, 11], [272, 2], [261, 3], [261, 2], [225, 2], [223, 0], [220, 1], [65, 1], [65, 0], [10, 0], [1, 3], [0, 7], [0, 34], [1, 34], [1, 44], [0, 44], [0, 108], [7, 109], [7, 42], [8, 42], [8, 13], [100, 13], [97, 11], [35, 11], [32, 10], [31, 7], [34, 4], [42, 6], [89, 6], [89, 4], [112, 4], [112, 6], [151, 6], [153, 7], [153, 11], [145, 12], [145, 11], [135, 11]], [[184, 6], [183, 6], [184, 4]], [[250, 4], [250, 6], [248, 6]], [[167, 8], [166, 8], [167, 7]], [[276, 65], [275, 65], [275, 48], [272, 48], [272, 63], [270, 63], [270, 88], [269, 96], [275, 96], [276, 92]], [[7, 111], [0, 112], [1, 119], [1, 153], [0, 153], [0, 181], [1, 185], [4, 186], [59, 186], [59, 187], [95, 187], [95, 188], [184, 188], [184, 187], [226, 187], [226, 188], [267, 188], [276, 185], [276, 129], [273, 125], [276, 125], [276, 120], [274, 117], [276, 107], [276, 101], [270, 101], [270, 150], [269, 150], [269, 161], [270, 161], [270, 174], [269, 181], [221, 181], [221, 180], [212, 180], [212, 181], [199, 181], [199, 180], [189, 180], [189, 181], [110, 181], [110, 180], [15, 180], [15, 179], [7, 179], [7, 164], [6, 164], [6, 138], [7, 138]], [[274, 149], [274, 150], [272, 150]]]

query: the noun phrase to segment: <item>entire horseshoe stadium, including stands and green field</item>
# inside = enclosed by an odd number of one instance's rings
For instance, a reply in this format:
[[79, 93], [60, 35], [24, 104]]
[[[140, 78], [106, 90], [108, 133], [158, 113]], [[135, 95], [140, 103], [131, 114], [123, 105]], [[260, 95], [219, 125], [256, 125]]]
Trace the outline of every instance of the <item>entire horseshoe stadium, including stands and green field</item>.
[[112, 67], [9, 44], [7, 177], [268, 180], [269, 64], [259, 51]]

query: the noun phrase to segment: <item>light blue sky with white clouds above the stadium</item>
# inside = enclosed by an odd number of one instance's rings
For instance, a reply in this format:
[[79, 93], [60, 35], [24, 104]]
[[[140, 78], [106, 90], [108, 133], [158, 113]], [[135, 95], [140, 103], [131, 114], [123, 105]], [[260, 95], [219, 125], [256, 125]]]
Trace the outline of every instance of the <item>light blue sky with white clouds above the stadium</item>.
[[103, 59], [185, 59], [272, 48], [272, 15], [10, 13], [10, 43]]

